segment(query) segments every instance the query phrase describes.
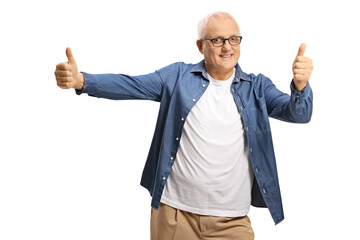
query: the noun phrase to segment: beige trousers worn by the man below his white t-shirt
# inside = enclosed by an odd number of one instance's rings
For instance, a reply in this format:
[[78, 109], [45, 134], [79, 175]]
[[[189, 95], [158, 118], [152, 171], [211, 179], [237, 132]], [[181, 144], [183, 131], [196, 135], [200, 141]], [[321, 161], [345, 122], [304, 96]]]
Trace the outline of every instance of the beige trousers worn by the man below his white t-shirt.
[[248, 216], [198, 215], [160, 203], [151, 208], [151, 240], [253, 240]]

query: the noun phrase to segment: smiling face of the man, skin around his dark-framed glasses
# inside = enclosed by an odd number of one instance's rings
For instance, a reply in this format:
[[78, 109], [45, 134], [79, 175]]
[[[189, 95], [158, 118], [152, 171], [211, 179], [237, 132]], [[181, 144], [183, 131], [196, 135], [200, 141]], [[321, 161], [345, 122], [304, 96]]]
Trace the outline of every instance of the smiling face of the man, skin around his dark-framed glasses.
[[[231, 36], [240, 36], [239, 26], [231, 18], [212, 19], [205, 27], [205, 38], [207, 39]], [[199, 51], [204, 54], [206, 71], [212, 77], [232, 75], [240, 57], [240, 45], [232, 46], [229, 41], [225, 41], [224, 46], [214, 47], [211, 42], [200, 40], [197, 41], [197, 45]]]

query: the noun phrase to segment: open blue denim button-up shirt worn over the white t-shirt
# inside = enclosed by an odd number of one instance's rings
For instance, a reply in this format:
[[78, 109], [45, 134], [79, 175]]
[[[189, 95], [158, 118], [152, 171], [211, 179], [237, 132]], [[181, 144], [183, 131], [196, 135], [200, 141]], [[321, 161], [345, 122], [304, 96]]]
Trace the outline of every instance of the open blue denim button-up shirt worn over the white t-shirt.
[[[264, 75], [246, 74], [238, 64], [235, 69], [230, 91], [243, 120], [254, 171], [251, 205], [267, 207], [277, 224], [284, 219], [284, 213], [269, 116], [287, 122], [309, 122], [312, 90], [307, 84], [299, 92], [292, 82], [289, 96]], [[151, 206], [158, 209], [166, 180], [176, 161], [186, 118], [209, 85], [205, 61], [198, 64], [177, 62], [140, 76], [83, 74], [84, 89], [76, 91], [77, 94], [160, 102], [156, 129], [141, 178], [141, 185], [152, 196]]]

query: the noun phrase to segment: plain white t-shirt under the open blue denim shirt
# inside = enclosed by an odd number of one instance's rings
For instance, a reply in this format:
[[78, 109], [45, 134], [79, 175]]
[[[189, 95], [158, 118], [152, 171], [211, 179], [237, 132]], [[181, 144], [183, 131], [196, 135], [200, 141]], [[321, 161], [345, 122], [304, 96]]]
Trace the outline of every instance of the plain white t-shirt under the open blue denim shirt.
[[234, 75], [225, 81], [208, 75], [210, 84], [185, 121], [162, 203], [201, 215], [248, 214], [253, 171], [230, 92]]

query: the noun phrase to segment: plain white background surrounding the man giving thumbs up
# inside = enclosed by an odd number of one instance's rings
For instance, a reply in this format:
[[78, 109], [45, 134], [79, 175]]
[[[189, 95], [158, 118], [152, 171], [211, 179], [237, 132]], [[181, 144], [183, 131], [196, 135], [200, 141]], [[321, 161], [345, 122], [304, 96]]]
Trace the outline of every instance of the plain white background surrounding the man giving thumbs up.
[[240, 65], [289, 93], [302, 42], [314, 62], [309, 124], [271, 120], [285, 220], [251, 208], [256, 239], [360, 239], [356, 1], [2, 1], [0, 239], [149, 239], [140, 178], [159, 103], [56, 86], [70, 46], [81, 71], [145, 74], [202, 59], [198, 21], [228, 11]]

